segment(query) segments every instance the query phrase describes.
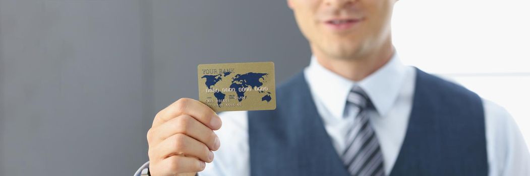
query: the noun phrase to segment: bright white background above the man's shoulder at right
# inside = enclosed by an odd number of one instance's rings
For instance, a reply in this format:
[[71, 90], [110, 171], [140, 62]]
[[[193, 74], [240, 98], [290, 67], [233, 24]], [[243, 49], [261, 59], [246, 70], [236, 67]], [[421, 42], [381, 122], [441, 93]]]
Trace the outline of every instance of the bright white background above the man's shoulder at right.
[[505, 107], [530, 146], [528, 8], [526, 0], [402, 0], [394, 8], [393, 42], [405, 64]]

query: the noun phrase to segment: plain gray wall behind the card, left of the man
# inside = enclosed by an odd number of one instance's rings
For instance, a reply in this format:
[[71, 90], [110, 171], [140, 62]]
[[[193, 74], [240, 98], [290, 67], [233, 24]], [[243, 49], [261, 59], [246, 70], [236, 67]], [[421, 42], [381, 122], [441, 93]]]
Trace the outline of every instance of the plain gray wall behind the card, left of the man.
[[197, 64], [309, 57], [285, 1], [0, 0], [0, 175], [132, 175]]

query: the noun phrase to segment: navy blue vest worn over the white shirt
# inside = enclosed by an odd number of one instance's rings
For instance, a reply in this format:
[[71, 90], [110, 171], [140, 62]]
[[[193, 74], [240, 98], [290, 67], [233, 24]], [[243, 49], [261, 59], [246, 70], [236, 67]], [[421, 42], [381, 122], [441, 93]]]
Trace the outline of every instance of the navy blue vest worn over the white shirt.
[[[251, 175], [349, 175], [303, 73], [278, 87], [276, 97], [276, 110], [248, 114]], [[480, 97], [417, 69], [405, 139], [386, 174], [487, 175]]]

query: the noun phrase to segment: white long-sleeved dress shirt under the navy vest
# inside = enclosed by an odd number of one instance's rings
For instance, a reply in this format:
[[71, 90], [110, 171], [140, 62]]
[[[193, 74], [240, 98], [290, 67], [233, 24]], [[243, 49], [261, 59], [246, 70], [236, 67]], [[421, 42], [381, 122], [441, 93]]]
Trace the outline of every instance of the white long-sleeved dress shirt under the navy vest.
[[[369, 114], [370, 123], [381, 146], [384, 171], [390, 173], [407, 131], [416, 70], [404, 66], [395, 54], [382, 68], [358, 82], [322, 67], [314, 57], [304, 73], [326, 132], [339, 154], [345, 150], [345, 136], [354, 122], [352, 116], [346, 115], [351, 110], [346, 106], [347, 95], [356, 85], [363, 88], [375, 106]], [[530, 154], [517, 124], [504, 108], [482, 100], [489, 175], [530, 175]], [[250, 176], [247, 112], [224, 112], [219, 116], [223, 126], [216, 134], [221, 146], [214, 152], [214, 161], [207, 163], [199, 175]]]

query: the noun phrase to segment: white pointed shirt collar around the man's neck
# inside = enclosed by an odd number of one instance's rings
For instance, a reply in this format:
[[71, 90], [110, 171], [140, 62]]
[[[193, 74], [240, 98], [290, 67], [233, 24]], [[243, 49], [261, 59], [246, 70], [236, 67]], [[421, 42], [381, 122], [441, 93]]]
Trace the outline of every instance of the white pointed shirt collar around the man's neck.
[[324, 68], [312, 56], [311, 63], [304, 73], [315, 101], [321, 101], [333, 116], [343, 117], [346, 98], [351, 88], [357, 85], [366, 92], [377, 113], [384, 117], [398, 98], [405, 69], [406, 66], [401, 63], [398, 54], [394, 54], [382, 68], [356, 82]]

